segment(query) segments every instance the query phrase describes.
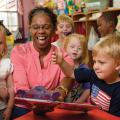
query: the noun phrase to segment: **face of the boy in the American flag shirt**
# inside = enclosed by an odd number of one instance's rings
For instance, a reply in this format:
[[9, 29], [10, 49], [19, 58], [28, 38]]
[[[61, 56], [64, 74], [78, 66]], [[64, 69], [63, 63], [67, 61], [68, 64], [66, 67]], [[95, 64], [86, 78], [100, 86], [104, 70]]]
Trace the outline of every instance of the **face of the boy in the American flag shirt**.
[[93, 61], [93, 69], [99, 79], [102, 79], [107, 83], [116, 81], [116, 78], [118, 77], [116, 70], [118, 64], [115, 59], [102, 51], [93, 56]]

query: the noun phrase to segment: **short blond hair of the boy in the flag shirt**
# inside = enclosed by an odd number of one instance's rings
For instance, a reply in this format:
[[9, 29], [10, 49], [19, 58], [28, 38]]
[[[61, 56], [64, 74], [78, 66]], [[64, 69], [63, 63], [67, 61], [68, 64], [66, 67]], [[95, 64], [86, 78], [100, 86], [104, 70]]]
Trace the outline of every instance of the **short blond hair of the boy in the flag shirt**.
[[113, 59], [120, 60], [120, 36], [109, 35], [97, 42], [93, 48], [92, 55], [96, 56], [98, 52], [106, 53]]

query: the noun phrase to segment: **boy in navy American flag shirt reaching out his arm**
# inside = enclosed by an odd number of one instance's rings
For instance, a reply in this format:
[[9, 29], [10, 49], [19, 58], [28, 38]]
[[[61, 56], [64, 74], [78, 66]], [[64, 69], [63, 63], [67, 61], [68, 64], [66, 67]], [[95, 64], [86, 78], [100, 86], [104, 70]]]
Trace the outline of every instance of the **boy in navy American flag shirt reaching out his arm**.
[[[60, 50], [53, 53], [53, 62], [77, 82], [91, 83], [91, 103], [113, 115], [120, 116], [120, 36], [110, 35], [100, 40], [92, 50], [93, 69], [73, 69], [62, 59]], [[74, 74], [73, 74], [74, 71]], [[68, 83], [68, 81], [67, 81]], [[66, 86], [64, 86], [66, 87]]]

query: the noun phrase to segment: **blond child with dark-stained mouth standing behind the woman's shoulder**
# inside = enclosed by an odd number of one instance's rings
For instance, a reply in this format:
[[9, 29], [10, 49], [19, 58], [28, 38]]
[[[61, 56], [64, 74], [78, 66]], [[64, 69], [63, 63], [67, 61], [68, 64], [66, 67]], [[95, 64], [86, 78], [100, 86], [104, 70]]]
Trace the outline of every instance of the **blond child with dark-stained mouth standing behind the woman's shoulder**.
[[63, 47], [64, 37], [74, 32], [74, 22], [69, 16], [62, 14], [57, 17], [58, 40], [52, 44], [57, 47]]

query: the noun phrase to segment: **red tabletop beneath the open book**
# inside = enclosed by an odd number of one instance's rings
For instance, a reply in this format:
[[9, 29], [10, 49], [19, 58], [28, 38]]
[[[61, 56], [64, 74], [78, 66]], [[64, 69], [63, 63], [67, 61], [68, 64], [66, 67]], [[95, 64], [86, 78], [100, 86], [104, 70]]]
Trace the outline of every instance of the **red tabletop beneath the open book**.
[[91, 110], [88, 113], [55, 109], [43, 116], [37, 116], [33, 112], [29, 112], [15, 120], [120, 120], [120, 117], [113, 116], [98, 109]]

